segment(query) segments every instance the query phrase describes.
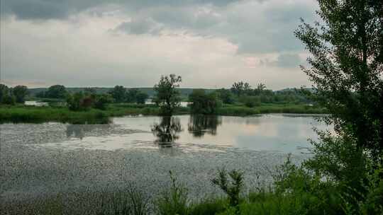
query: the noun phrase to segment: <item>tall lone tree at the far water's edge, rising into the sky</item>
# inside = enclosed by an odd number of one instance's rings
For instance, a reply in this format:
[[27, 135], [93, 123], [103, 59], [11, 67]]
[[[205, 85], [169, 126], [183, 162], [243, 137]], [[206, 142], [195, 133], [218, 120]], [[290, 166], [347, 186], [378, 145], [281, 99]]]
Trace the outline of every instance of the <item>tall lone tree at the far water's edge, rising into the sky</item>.
[[162, 115], [172, 115], [174, 110], [179, 107], [179, 83], [182, 81], [181, 76], [170, 74], [169, 76], [161, 76], [160, 81], [154, 86], [156, 92], [154, 102], [160, 106]]

